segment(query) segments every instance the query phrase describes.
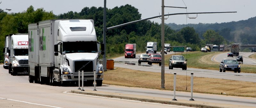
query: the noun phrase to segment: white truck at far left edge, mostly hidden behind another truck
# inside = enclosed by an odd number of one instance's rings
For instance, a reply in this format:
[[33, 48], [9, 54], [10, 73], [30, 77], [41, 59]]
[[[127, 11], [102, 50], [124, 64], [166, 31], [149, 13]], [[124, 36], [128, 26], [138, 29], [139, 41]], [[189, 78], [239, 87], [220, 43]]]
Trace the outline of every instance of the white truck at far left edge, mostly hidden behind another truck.
[[5, 44], [4, 44], [4, 68], [8, 69], [9, 68], [9, 53], [8, 53], [8, 35], [5, 36]]

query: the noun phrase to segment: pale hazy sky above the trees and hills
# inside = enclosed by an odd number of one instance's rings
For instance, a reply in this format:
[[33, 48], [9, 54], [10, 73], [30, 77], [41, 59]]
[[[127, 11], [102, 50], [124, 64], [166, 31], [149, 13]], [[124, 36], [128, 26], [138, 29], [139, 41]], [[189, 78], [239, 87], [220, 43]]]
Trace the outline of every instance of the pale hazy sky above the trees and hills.
[[[162, 0], [107, 0], [107, 8], [112, 9], [130, 4], [141, 13], [141, 19], [159, 16], [162, 13]], [[214, 14], [189, 14], [165, 16], [164, 23], [175, 24], [198, 24], [198, 23], [223, 23], [231, 21], [247, 20], [256, 16], [256, 0], [164, 0], [164, 6], [187, 7], [164, 8], [165, 14], [192, 13], [192, 12], [227, 12], [236, 13], [214, 13]], [[104, 0], [2, 0], [0, 9], [7, 13], [18, 13], [26, 11], [32, 5], [34, 10], [44, 8], [45, 11], [52, 11], [55, 15], [67, 13], [68, 11], [81, 12], [84, 7], [104, 7]], [[188, 17], [196, 17], [189, 19]], [[151, 19], [161, 24], [160, 18]]]

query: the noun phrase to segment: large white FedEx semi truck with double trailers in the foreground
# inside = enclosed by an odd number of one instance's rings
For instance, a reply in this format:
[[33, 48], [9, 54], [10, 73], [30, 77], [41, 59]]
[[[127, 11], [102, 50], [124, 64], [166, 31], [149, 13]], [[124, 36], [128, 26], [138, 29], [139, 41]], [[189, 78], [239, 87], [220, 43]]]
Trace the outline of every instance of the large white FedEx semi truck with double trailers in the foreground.
[[[102, 85], [103, 65], [93, 20], [52, 19], [28, 24], [29, 83]], [[100, 51], [101, 45], [101, 51]]]

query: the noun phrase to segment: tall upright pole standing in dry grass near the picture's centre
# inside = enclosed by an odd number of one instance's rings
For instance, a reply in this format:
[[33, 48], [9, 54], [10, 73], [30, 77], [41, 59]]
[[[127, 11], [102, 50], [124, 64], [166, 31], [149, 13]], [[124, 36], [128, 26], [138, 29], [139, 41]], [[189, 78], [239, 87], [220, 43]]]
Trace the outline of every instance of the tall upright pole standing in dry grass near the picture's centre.
[[164, 88], [164, 0], [162, 0], [162, 29], [161, 29], [161, 47], [162, 47], [162, 61], [161, 61], [161, 88]]

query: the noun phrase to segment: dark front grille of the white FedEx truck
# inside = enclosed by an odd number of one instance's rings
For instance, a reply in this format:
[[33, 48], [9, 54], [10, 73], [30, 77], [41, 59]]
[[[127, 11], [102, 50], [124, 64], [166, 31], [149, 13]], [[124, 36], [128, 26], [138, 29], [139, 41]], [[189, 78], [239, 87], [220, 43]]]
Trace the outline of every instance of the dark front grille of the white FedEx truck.
[[84, 72], [93, 72], [92, 61], [75, 61], [74, 65], [75, 65], [75, 72], [78, 72], [78, 70], [81, 70], [81, 71], [83, 70]]

